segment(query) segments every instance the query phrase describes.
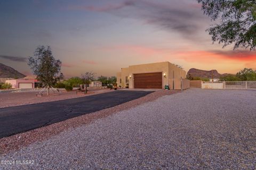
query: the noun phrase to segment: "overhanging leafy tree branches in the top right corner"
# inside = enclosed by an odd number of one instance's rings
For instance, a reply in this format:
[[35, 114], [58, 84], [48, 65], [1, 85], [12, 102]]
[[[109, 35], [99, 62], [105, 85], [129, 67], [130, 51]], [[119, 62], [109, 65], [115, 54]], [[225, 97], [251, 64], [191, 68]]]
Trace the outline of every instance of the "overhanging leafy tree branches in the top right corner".
[[256, 3], [255, 0], [197, 0], [202, 4], [204, 14], [220, 24], [206, 31], [212, 41], [223, 47], [234, 44], [238, 47], [255, 50], [256, 46]]

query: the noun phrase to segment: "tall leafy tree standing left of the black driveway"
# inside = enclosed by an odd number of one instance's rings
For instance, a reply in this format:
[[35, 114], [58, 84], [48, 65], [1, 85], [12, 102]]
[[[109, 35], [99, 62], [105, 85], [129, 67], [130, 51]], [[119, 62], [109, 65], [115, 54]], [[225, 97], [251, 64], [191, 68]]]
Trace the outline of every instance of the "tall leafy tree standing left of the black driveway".
[[50, 87], [63, 78], [61, 70], [61, 61], [55, 60], [50, 46], [39, 46], [36, 48], [34, 56], [29, 57], [28, 65], [36, 79], [47, 86], [47, 95]]

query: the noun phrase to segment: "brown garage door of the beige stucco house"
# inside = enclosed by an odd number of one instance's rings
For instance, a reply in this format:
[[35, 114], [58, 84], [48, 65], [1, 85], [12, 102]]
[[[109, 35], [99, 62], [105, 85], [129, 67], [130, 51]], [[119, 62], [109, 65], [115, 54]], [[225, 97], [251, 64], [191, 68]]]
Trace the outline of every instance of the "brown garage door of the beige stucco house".
[[162, 89], [162, 73], [134, 74], [134, 88]]

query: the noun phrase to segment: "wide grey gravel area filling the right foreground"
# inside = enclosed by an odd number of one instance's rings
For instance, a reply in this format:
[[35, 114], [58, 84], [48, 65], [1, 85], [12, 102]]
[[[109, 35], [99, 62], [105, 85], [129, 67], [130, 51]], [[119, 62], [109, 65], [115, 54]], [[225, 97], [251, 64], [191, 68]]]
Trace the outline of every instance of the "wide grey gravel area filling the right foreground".
[[188, 89], [38, 141], [0, 169], [255, 169], [256, 91]]

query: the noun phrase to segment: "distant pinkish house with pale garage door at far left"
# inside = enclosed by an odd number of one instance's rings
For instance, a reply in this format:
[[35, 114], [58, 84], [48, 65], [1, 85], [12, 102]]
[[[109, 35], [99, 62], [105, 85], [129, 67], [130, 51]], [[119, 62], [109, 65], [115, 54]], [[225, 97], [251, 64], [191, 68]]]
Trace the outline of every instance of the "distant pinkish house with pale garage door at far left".
[[23, 79], [5, 80], [5, 83], [10, 83], [13, 89], [33, 89], [38, 81], [34, 76], [27, 76]]

